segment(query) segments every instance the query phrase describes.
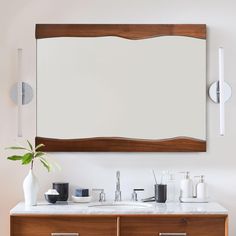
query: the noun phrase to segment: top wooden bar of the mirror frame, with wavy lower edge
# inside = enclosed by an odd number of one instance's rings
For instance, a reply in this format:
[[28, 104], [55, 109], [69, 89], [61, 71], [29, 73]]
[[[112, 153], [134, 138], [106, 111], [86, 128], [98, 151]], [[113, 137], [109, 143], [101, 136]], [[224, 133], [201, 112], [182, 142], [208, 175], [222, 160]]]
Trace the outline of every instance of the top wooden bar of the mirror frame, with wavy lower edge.
[[145, 39], [159, 36], [206, 39], [204, 24], [37, 24], [36, 39], [52, 37], [118, 36]]

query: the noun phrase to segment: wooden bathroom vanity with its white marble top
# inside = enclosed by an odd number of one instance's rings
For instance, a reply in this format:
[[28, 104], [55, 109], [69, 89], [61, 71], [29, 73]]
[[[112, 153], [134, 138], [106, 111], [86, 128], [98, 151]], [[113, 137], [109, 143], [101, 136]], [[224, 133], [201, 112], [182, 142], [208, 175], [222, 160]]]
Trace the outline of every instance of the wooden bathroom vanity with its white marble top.
[[10, 212], [11, 236], [228, 235], [228, 212], [218, 203], [140, 204], [19, 203]]

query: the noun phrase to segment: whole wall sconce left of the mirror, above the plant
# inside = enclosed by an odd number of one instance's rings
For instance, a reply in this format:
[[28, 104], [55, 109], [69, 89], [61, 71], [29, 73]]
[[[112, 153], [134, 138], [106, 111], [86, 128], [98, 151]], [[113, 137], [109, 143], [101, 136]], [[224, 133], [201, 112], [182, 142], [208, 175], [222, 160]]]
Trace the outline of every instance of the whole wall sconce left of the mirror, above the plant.
[[17, 50], [17, 83], [11, 88], [10, 96], [12, 101], [17, 104], [17, 137], [22, 137], [22, 106], [30, 103], [33, 99], [32, 87], [23, 82], [22, 74], [22, 49]]

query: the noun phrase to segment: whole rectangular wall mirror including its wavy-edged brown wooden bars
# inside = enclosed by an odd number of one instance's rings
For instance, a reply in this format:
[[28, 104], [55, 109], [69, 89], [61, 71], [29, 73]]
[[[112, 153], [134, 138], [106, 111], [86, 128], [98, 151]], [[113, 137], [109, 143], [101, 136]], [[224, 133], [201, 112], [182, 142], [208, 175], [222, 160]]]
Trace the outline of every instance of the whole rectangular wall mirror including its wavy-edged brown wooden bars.
[[45, 151], [206, 151], [205, 25], [36, 26]]

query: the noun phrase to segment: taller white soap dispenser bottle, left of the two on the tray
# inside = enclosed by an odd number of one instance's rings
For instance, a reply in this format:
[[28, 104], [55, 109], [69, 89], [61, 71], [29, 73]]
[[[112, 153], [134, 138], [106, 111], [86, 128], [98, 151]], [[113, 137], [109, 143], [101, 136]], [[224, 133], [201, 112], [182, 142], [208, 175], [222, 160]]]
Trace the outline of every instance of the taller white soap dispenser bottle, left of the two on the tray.
[[193, 181], [189, 176], [189, 171], [181, 173], [184, 174], [184, 178], [180, 182], [180, 198], [192, 198]]

